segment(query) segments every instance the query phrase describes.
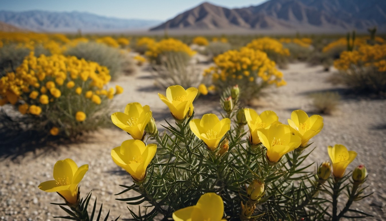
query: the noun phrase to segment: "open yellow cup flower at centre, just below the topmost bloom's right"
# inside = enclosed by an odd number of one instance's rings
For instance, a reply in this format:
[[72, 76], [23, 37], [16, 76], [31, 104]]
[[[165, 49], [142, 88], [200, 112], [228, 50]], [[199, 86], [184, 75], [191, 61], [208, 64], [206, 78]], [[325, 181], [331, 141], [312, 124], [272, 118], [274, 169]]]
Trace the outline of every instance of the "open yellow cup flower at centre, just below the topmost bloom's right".
[[211, 151], [217, 148], [222, 137], [230, 130], [229, 118], [219, 120], [213, 113], [204, 114], [201, 119], [193, 119], [189, 125], [193, 134], [203, 140]]

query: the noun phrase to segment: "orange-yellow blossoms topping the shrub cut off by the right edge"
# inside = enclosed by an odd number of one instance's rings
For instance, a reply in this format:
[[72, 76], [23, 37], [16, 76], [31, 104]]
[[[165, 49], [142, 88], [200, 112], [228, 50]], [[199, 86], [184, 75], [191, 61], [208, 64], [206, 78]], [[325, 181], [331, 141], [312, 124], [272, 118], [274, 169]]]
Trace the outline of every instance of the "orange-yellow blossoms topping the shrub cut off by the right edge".
[[355, 51], [343, 51], [334, 61], [338, 70], [348, 70], [352, 65], [373, 66], [379, 72], [386, 72], [386, 45], [362, 45]]

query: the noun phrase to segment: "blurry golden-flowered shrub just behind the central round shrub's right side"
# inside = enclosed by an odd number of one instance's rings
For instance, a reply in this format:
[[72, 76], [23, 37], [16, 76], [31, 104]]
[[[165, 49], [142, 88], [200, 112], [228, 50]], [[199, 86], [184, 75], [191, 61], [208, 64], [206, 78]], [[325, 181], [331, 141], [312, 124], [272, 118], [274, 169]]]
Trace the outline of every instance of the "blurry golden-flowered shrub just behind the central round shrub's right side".
[[289, 50], [284, 48], [276, 39], [268, 37], [257, 38], [247, 44], [247, 48], [264, 51], [269, 59], [276, 62], [280, 67], [285, 67], [288, 63]]

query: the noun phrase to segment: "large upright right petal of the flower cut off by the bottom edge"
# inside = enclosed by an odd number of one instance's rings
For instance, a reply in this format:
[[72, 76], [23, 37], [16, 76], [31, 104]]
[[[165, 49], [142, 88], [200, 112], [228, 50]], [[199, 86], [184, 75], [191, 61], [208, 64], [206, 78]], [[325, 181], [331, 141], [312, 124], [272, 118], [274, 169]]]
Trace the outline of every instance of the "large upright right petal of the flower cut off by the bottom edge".
[[203, 220], [221, 220], [224, 214], [224, 203], [215, 193], [206, 193], [200, 197], [196, 206], [201, 209]]

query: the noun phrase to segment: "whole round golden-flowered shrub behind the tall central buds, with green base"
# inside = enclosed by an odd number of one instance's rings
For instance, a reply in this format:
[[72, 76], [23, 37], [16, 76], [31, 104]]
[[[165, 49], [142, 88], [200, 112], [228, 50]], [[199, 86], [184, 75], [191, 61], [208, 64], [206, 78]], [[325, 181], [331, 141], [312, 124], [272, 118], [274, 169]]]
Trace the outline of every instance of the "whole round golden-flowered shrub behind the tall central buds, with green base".
[[213, 58], [213, 61], [215, 66], [205, 70], [204, 75], [211, 77], [219, 91], [238, 84], [243, 102], [257, 98], [261, 90], [270, 84], [286, 84], [275, 62], [259, 50], [247, 47], [230, 50]]

